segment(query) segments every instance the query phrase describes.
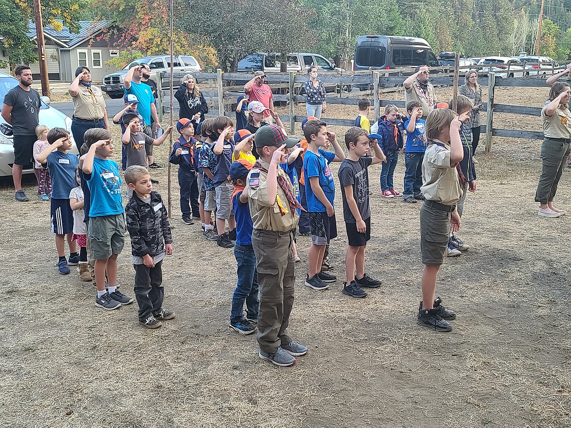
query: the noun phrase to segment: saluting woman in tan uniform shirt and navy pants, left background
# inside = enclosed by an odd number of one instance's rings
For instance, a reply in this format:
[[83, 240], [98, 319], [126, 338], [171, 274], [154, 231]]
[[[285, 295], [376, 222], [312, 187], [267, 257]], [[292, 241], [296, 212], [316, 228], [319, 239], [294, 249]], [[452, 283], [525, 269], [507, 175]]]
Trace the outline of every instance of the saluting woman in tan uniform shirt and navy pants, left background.
[[107, 110], [103, 92], [91, 84], [91, 72], [87, 67], [77, 67], [75, 80], [70, 84], [69, 93], [73, 98], [73, 122], [71, 133], [78, 149], [83, 146], [83, 134], [91, 128], [109, 130]]

